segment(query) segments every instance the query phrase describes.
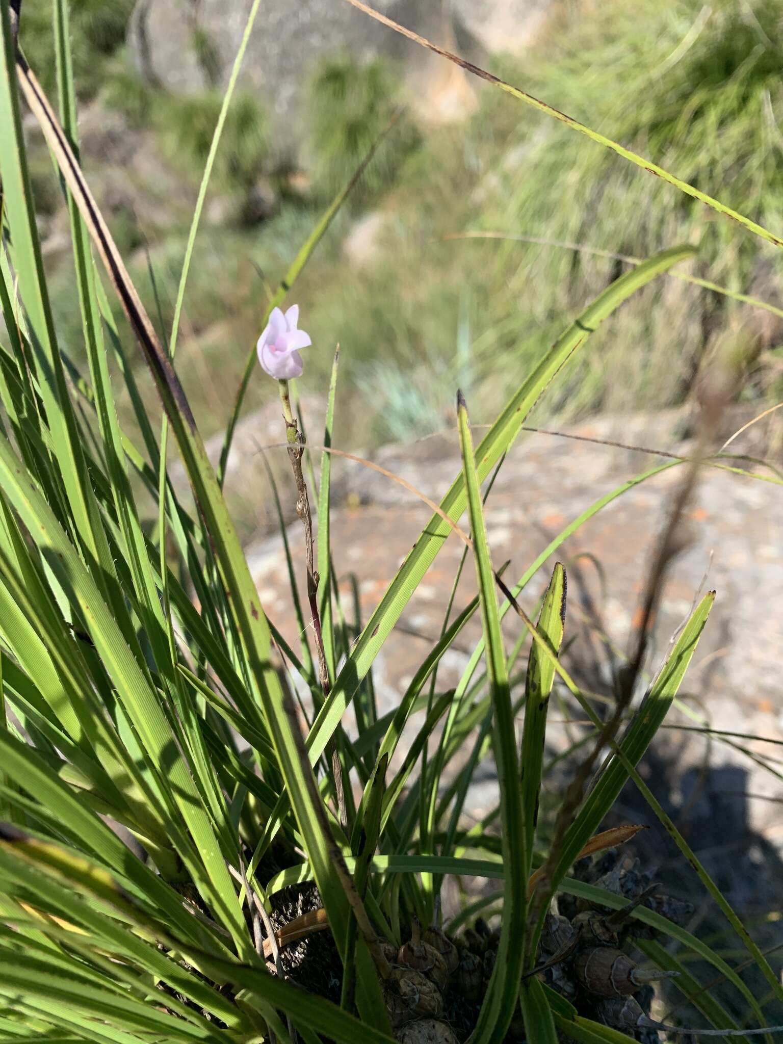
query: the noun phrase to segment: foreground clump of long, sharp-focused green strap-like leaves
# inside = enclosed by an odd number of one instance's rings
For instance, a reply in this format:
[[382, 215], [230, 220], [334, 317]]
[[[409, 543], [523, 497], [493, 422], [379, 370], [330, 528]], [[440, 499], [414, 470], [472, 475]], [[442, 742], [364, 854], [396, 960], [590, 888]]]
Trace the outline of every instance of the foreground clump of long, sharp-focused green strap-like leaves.
[[[245, 42], [258, 9], [255, 3]], [[639, 657], [623, 672], [626, 681], [618, 687], [607, 720], [560, 662], [567, 621], [563, 567], [553, 569], [537, 625], [520, 599], [527, 599], [528, 584], [567, 536], [634, 483], [587, 505], [511, 590], [493, 569], [482, 508], [480, 483], [502, 466], [539, 398], [567, 375], [594, 331], [610, 324], [636, 294], [692, 259], [695, 248], [669, 247], [614, 279], [576, 318], [563, 317], [560, 335], [523, 373], [509, 374], [498, 358], [496, 380], [505, 405], [475, 450], [467, 406], [457, 397], [461, 469], [363, 626], [359, 620], [345, 622], [338, 591], [330, 584], [331, 471], [324, 453], [319, 480], [310, 480], [313, 500], [317, 489], [317, 562], [308, 562], [307, 618], [295, 582], [291, 591], [301, 639], [291, 648], [260, 603], [222, 496], [223, 465], [216, 474], [173, 366], [217, 132], [164, 349], [69, 149], [66, 134], [75, 138], [77, 122], [66, 43], [67, 0], [55, 0], [53, 16], [55, 37], [63, 43], [57, 79], [65, 134], [29, 74], [15, 62], [8, 0], [0, 0], [0, 125], [5, 130], [0, 136], [4, 1039], [50, 1044], [454, 1044], [455, 1030], [441, 1018], [450, 986], [452, 1021], [471, 1044], [494, 1044], [506, 1030], [512, 1040], [527, 1044], [557, 1044], [563, 1036], [588, 1044], [630, 1042], [624, 1029], [649, 1024], [639, 1021], [645, 1018], [641, 1009], [637, 1017], [627, 1000], [621, 1011], [616, 1004], [608, 1011], [607, 998], [589, 1001], [584, 995], [574, 1006], [542, 981], [539, 973], [545, 969], [538, 964], [555, 892], [568, 889], [586, 899], [594, 914], [596, 904], [623, 906], [624, 900], [611, 891], [586, 891], [584, 882], [567, 875], [580, 853], [630, 836], [621, 831], [621, 836], [611, 832], [611, 838], [595, 838], [630, 779], [742, 949], [739, 956], [731, 954], [737, 962], [731, 965], [707, 942], [651, 910], [625, 909], [625, 917], [675, 941], [677, 955], [659, 947], [656, 959], [681, 973], [683, 993], [710, 1024], [722, 1027], [721, 1033], [729, 1026], [740, 1035], [765, 1031], [741, 1030], [710, 996], [709, 980], [703, 987], [692, 974], [691, 960], [698, 958], [711, 966], [710, 976], [717, 972], [726, 977], [741, 1005], [743, 1025], [763, 1025], [766, 1013], [783, 1001], [783, 988], [764, 954], [636, 770], [677, 696], [714, 593], [694, 608], [660, 671], [643, 682], [641, 627]], [[240, 50], [237, 68], [241, 55]], [[89, 375], [79, 381], [71, 379], [68, 346], [50, 307], [18, 84], [73, 193], [70, 231], [89, 364]], [[230, 101], [229, 93], [221, 115]], [[336, 197], [311, 230], [271, 296], [267, 319], [345, 199]], [[706, 201], [719, 209], [714, 199]], [[741, 215], [737, 220], [746, 224]], [[763, 229], [756, 232], [762, 239], [769, 236]], [[124, 303], [165, 407], [160, 433], [127, 367], [135, 349], [114, 324], [104, 276], [111, 292]], [[295, 323], [289, 316], [284, 331], [279, 316], [277, 322], [274, 347], [287, 350], [284, 338]], [[253, 362], [255, 349], [247, 348]], [[315, 348], [308, 349], [307, 359], [314, 354]], [[317, 382], [317, 369], [312, 373]], [[335, 417], [336, 359], [332, 374], [327, 444]], [[618, 372], [616, 379], [621, 376]], [[133, 436], [117, 416], [118, 387], [135, 411]], [[280, 382], [277, 390], [298, 480], [299, 513], [310, 541], [291, 389]], [[244, 386], [233, 420], [243, 393]], [[192, 513], [168, 481], [169, 431], [192, 485]], [[231, 431], [227, 452], [230, 442]], [[678, 468], [687, 499], [697, 466], [697, 459], [667, 460], [635, 481]], [[762, 477], [733, 470], [746, 479]], [[132, 476], [158, 505], [151, 536], [142, 525]], [[774, 476], [763, 477], [783, 484]], [[478, 594], [467, 606], [453, 607], [453, 614], [449, 608], [440, 637], [398, 706], [379, 717], [374, 663], [466, 512], [472, 539], [461, 532], [462, 564], [469, 554], [475, 560]], [[671, 533], [677, 523], [674, 512]], [[650, 575], [658, 583], [655, 569]], [[508, 654], [501, 620], [512, 609], [517, 615], [508, 619], [516, 622], [516, 634]], [[482, 637], [457, 688], [442, 692], [438, 662], [458, 637], [465, 639], [465, 625], [479, 612]], [[528, 635], [530, 652], [520, 685], [514, 667]], [[646, 694], [638, 708], [633, 701], [636, 682]], [[587, 717], [591, 754], [551, 826], [540, 821], [538, 810], [542, 778], [551, 770], [542, 754], [555, 685]], [[299, 708], [294, 695], [302, 699]], [[352, 704], [359, 722], [353, 734], [343, 723]], [[520, 743], [518, 716], [524, 722]], [[409, 722], [418, 732], [403, 744]], [[621, 725], [622, 738], [616, 741]], [[498, 805], [483, 823], [466, 825], [468, 787], [491, 752], [498, 768]], [[396, 753], [402, 755], [399, 765], [393, 760]], [[445, 787], [448, 772], [453, 778]], [[469, 946], [460, 955], [441, 931], [438, 897], [446, 875], [502, 882], [493, 900], [502, 897], [494, 964], [479, 962]], [[292, 894], [284, 893], [288, 886]], [[304, 911], [303, 903], [310, 909]], [[456, 934], [475, 911], [475, 906], [460, 910], [446, 927]], [[598, 917], [608, 930], [610, 922]], [[421, 948], [423, 926], [449, 955], [450, 979], [442, 974], [446, 958], [438, 964]], [[586, 927], [594, 932], [594, 921]], [[324, 945], [318, 950], [316, 944], [313, 951], [314, 935]], [[594, 949], [590, 943], [586, 950], [582, 936], [576, 942], [580, 952]], [[294, 954], [310, 954], [309, 972], [306, 960], [288, 963], [291, 943], [301, 944]], [[739, 975], [745, 950], [768, 982], [769, 995], [761, 1000]], [[571, 953], [559, 947], [546, 964], [563, 965]], [[614, 969], [622, 955], [612, 950], [610, 956]], [[631, 984], [638, 983], [631, 979]], [[592, 1017], [600, 1013], [603, 1022]]]

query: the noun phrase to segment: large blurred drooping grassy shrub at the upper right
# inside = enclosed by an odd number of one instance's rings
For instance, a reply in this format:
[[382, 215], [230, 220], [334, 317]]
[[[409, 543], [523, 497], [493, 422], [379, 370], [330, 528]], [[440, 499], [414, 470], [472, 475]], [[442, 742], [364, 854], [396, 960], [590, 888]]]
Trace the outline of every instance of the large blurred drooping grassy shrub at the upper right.
[[[781, 29], [777, 0], [600, 4], [540, 56], [531, 90], [578, 119], [611, 127], [616, 140], [686, 182], [709, 185], [729, 206], [781, 229]], [[583, 147], [566, 128], [542, 132], [522, 163], [502, 169], [499, 192], [489, 200], [492, 213], [484, 210], [477, 227], [639, 257], [674, 236], [699, 243], [697, 275], [781, 303], [778, 258], [599, 146]], [[611, 260], [551, 246], [508, 245], [496, 256], [502, 271], [512, 269], [511, 293], [523, 295], [530, 317], [542, 324], [619, 270]], [[640, 301], [626, 310], [604, 365], [575, 371], [562, 388], [564, 403], [617, 408], [606, 375], [620, 358], [647, 404], [678, 402], [687, 394], [704, 353], [736, 308], [697, 290], [671, 290], [659, 300], [662, 309]], [[759, 342], [754, 316], [748, 319], [743, 339], [752, 365]], [[758, 375], [744, 395], [774, 395], [768, 381]]]

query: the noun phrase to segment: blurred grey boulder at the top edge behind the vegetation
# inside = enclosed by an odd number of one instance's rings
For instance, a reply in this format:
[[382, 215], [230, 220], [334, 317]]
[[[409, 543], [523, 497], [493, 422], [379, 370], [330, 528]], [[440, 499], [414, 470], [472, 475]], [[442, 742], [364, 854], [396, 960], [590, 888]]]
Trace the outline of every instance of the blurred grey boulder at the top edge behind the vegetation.
[[[521, 50], [552, 0], [376, 0], [402, 25], [476, 57], [481, 50]], [[246, 4], [224, 0], [139, 0], [128, 43], [137, 69], [172, 91], [224, 86], [239, 47]], [[421, 96], [431, 91], [438, 118], [471, 111], [472, 88], [456, 70], [444, 79], [443, 60], [429, 55], [345, 0], [267, 0], [245, 54], [241, 81], [277, 116], [279, 135], [295, 140], [300, 92], [314, 62], [350, 50], [403, 58]], [[429, 73], [432, 72], [430, 76]]]

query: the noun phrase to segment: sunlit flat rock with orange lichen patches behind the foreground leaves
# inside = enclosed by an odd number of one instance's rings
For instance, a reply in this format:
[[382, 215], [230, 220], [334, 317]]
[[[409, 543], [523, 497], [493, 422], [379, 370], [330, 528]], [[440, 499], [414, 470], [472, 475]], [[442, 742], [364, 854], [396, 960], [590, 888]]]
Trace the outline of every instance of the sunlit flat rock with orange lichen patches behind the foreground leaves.
[[[656, 421], [597, 420], [569, 429], [569, 433], [687, 452], [688, 444], [670, 435], [682, 423], [683, 416], [672, 411]], [[738, 423], [731, 421], [727, 434], [741, 423], [741, 418]], [[732, 450], [763, 456], [762, 429], [763, 422], [738, 438]], [[385, 447], [374, 454], [374, 459], [433, 499], [443, 495], [459, 471], [455, 438], [450, 436]], [[516, 582], [550, 540], [598, 497], [665, 462], [655, 454], [591, 442], [547, 434], [525, 436], [508, 455], [488, 501], [487, 524], [495, 564], [511, 560], [506, 577]], [[413, 495], [378, 473], [339, 459], [333, 468], [336, 492], [332, 551], [341, 598], [351, 618], [350, 576], [354, 574], [366, 621], [430, 512]], [[613, 501], [552, 553], [522, 595], [523, 606], [533, 613], [554, 562], [566, 564], [570, 645], [565, 663], [591, 691], [611, 692], [611, 672], [620, 662], [611, 648], [628, 647], [656, 538], [682, 473], [682, 468], [672, 467]], [[292, 500], [292, 490], [286, 488], [283, 498]], [[648, 672], [657, 670], [695, 600], [715, 589], [712, 615], [680, 693], [682, 708], [670, 716], [674, 726], [693, 725], [688, 714], [694, 714], [699, 720], [709, 720], [713, 729], [764, 736], [778, 743], [783, 740], [782, 502], [783, 490], [778, 484], [716, 469], [706, 469], [702, 474], [687, 512], [688, 543], [670, 567], [645, 665]], [[461, 524], [467, 527], [465, 519]], [[302, 577], [303, 537], [298, 521], [288, 527], [287, 535], [296, 574]], [[380, 713], [397, 706], [404, 687], [437, 639], [462, 547], [454, 536], [446, 542], [375, 662]], [[266, 611], [298, 647], [280, 535], [251, 546], [248, 560]], [[475, 572], [469, 561], [457, 590], [455, 612], [475, 593]], [[520, 634], [520, 622], [512, 614], [505, 618], [505, 633], [511, 648]], [[456, 683], [479, 635], [480, 621], [474, 619], [443, 660], [440, 690]], [[520, 663], [526, 663], [526, 654]], [[517, 694], [520, 684], [518, 680]], [[583, 717], [573, 709], [571, 713]], [[563, 749], [567, 732], [566, 726], [556, 723], [563, 720], [562, 707], [550, 717], [548, 742], [554, 753]], [[743, 799], [750, 828], [762, 831], [783, 850], [776, 804], [776, 798], [781, 797], [779, 778], [730, 744], [745, 746], [759, 758], [774, 756], [774, 745], [757, 740], [727, 742], [726, 737], [708, 739], [674, 729], [659, 736], [658, 750], [664, 749], [667, 738], [683, 773], [698, 777], [705, 765], [717, 765], [723, 774], [718, 779], [729, 779], [731, 789], [751, 794]], [[401, 748], [404, 750], [404, 743]], [[476, 777], [470, 796], [472, 813], [481, 814], [496, 800], [497, 781], [490, 763]], [[683, 797], [686, 800], [690, 801], [687, 794]]]

